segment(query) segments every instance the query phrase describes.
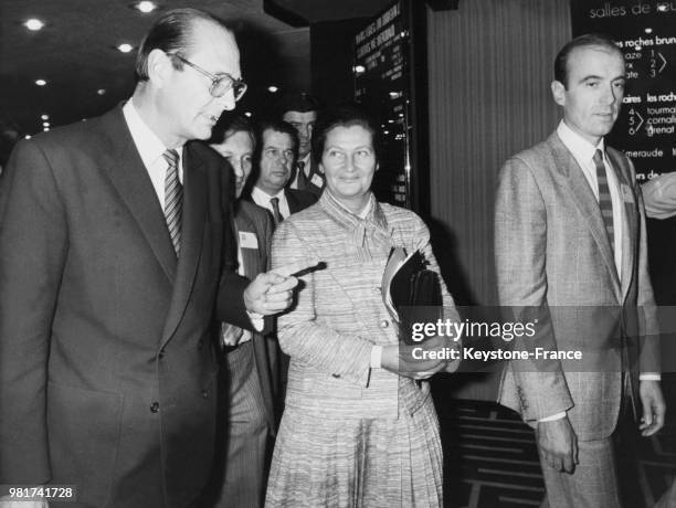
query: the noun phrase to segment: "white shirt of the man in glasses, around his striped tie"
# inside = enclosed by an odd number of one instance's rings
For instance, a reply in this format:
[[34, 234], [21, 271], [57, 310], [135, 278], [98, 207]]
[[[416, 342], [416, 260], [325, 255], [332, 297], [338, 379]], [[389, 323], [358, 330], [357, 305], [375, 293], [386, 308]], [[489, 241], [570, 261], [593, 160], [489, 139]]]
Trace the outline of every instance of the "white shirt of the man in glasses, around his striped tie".
[[[162, 154], [167, 150], [165, 144], [157, 137], [157, 135], [150, 130], [150, 127], [141, 119], [138, 110], [134, 107], [131, 99], [127, 100], [127, 104], [123, 106], [123, 115], [131, 133], [131, 139], [134, 145], [140, 155], [140, 158], [148, 171], [152, 187], [159, 199], [162, 210], [165, 209], [165, 178], [167, 176], [167, 168], [169, 163], [162, 157]], [[179, 156], [179, 181], [183, 183], [183, 147], [177, 148], [176, 151]]]

